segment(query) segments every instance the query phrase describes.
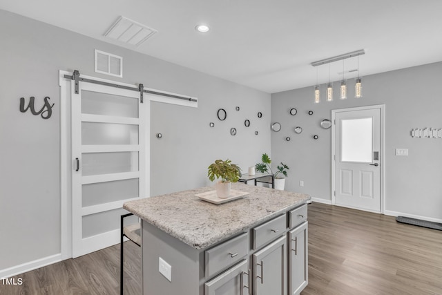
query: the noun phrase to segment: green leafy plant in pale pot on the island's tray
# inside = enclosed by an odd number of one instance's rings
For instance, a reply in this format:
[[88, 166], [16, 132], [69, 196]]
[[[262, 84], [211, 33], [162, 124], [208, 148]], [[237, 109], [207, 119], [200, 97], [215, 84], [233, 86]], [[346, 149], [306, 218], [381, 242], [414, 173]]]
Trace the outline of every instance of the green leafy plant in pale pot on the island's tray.
[[230, 196], [231, 182], [237, 182], [241, 176], [240, 167], [227, 159], [225, 161], [215, 160], [208, 169], [207, 176], [209, 176], [209, 180], [220, 179], [215, 184], [218, 198], [228, 198]]

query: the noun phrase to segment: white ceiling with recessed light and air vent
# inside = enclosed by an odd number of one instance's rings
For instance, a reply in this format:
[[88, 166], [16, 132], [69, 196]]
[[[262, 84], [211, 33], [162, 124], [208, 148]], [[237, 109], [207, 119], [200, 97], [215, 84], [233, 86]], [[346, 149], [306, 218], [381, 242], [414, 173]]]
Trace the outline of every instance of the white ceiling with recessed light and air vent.
[[[311, 62], [359, 49], [362, 76], [442, 61], [441, 0], [0, 0], [0, 8], [267, 93], [314, 85]], [[119, 16], [158, 32], [139, 47], [104, 37]], [[198, 23], [211, 30], [197, 32]], [[357, 64], [319, 66], [318, 82]]]

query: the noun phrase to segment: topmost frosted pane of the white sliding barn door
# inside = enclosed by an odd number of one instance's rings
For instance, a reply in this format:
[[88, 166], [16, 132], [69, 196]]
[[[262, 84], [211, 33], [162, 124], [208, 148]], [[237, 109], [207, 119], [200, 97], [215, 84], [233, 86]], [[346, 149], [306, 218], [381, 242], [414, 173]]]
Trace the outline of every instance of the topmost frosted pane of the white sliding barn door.
[[116, 117], [138, 117], [138, 99], [81, 91], [81, 113]]

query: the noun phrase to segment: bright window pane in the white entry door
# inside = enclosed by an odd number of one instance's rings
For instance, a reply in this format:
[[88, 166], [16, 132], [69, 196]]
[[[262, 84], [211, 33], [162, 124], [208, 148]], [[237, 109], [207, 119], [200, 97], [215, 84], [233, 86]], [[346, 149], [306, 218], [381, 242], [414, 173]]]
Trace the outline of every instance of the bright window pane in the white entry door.
[[340, 160], [342, 162], [372, 162], [372, 118], [341, 120]]

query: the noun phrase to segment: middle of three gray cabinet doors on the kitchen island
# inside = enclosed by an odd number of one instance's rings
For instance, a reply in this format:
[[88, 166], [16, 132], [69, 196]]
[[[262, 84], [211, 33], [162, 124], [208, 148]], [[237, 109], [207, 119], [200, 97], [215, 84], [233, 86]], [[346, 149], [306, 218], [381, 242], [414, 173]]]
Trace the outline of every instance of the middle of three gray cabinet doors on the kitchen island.
[[253, 254], [253, 294], [286, 294], [286, 240], [286, 236], [282, 236]]

